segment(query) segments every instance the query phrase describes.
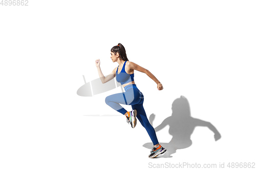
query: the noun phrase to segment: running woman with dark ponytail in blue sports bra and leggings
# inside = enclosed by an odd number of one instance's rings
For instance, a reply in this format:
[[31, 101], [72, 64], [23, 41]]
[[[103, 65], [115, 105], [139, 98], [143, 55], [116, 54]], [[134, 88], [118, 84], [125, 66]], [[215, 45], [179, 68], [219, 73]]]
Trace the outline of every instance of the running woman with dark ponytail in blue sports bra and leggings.
[[[157, 83], [158, 90], [162, 90], [162, 84], [157, 78], [147, 69], [130, 62], [126, 57], [125, 48], [121, 43], [113, 46], [111, 49], [111, 56], [113, 62], [118, 62], [119, 66], [114, 68], [110, 75], [105, 77], [100, 69], [100, 60], [95, 61], [95, 65], [98, 69], [99, 77], [102, 83], [106, 83], [116, 77], [117, 82], [120, 82], [125, 92], [112, 94], [106, 97], [105, 102], [107, 105], [122, 113], [126, 116], [127, 123], [131, 124], [132, 128], [136, 126], [136, 116], [139, 119], [141, 125], [146, 129], [148, 135], [153, 142], [153, 149], [149, 158], [155, 158], [156, 156], [165, 153], [164, 149], [157, 140], [155, 129], [152, 127], [147, 119], [145, 110], [143, 108], [144, 96], [142, 92], [137, 88], [134, 82], [134, 70], [144, 72], [148, 77]], [[126, 111], [120, 104], [132, 105], [132, 111]]]

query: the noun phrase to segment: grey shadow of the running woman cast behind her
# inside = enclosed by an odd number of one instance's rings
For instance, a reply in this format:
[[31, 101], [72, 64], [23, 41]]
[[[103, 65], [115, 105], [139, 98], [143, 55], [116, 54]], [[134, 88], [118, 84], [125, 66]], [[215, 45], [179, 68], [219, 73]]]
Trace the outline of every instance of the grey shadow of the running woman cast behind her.
[[[164, 155], [159, 155], [158, 158], [170, 158], [172, 157], [170, 155], [176, 153], [177, 149], [190, 147], [192, 144], [190, 137], [197, 126], [208, 127], [212, 132], [214, 132], [214, 138], [216, 141], [221, 138], [221, 134], [211, 123], [191, 117], [189, 103], [184, 96], [181, 96], [173, 102], [172, 110], [172, 116], [165, 118], [163, 122], [155, 128], [155, 131], [157, 132], [169, 125], [169, 134], [173, 136], [169, 143], [159, 142], [167, 151]], [[155, 114], [151, 114], [149, 119], [153, 126]], [[152, 142], [143, 144], [143, 147], [147, 149], [152, 149], [152, 146]]]

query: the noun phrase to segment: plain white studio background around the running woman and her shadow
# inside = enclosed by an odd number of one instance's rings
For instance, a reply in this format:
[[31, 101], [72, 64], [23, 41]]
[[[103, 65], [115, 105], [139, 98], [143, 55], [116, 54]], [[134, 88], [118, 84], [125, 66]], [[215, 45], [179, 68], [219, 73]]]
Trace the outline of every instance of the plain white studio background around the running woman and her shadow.
[[[255, 1], [29, 1], [0, 6], [1, 169], [131, 169], [149, 163], [253, 162], [255, 156]], [[154, 127], [185, 96], [197, 127], [193, 144], [172, 158], [149, 159], [138, 123], [105, 104], [121, 89], [81, 97], [77, 89], [118, 66], [110, 50], [152, 72], [135, 70]], [[131, 106], [124, 106], [127, 110]], [[87, 115], [98, 116], [87, 116]], [[103, 115], [103, 116], [102, 116]], [[113, 115], [113, 116], [104, 116]], [[168, 128], [157, 132], [169, 142]], [[241, 168], [242, 169], [242, 168]]]

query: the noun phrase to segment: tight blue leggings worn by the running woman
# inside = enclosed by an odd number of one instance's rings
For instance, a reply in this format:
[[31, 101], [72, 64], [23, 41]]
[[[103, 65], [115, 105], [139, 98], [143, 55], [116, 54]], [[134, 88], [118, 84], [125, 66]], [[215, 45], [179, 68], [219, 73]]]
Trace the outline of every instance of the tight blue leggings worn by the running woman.
[[156, 131], [148, 121], [143, 108], [144, 96], [142, 92], [140, 92], [136, 84], [127, 85], [124, 87], [124, 90], [125, 92], [123, 93], [107, 96], [105, 99], [106, 104], [122, 114], [125, 114], [127, 111], [120, 104], [132, 105], [133, 110], [137, 110], [137, 118], [146, 129], [148, 135], [150, 135], [153, 144], [158, 144]]

